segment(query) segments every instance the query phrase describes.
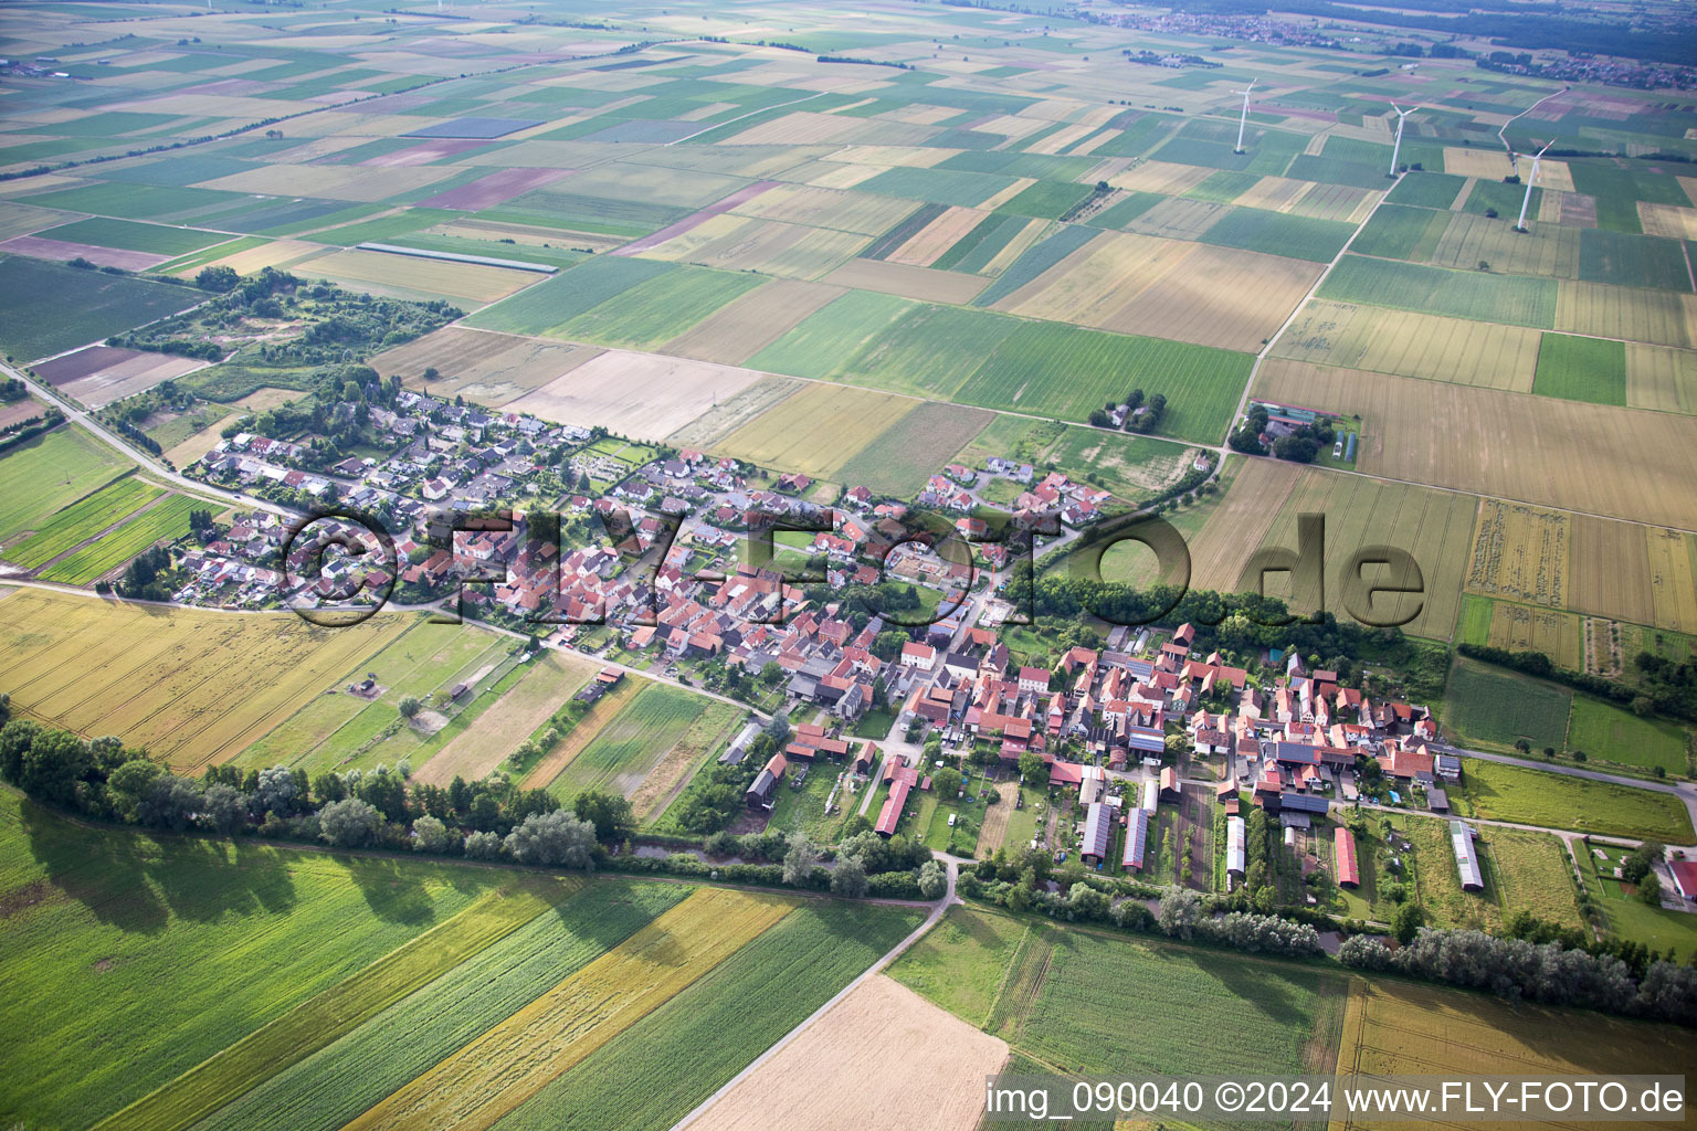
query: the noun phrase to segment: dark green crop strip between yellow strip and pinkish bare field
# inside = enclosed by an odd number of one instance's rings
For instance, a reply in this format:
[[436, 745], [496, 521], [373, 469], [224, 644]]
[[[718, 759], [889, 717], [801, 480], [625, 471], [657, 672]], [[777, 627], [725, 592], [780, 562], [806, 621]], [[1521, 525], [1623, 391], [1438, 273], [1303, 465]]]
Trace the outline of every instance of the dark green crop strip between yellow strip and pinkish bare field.
[[906, 907], [798, 907], [496, 1128], [665, 1131], [921, 917]]

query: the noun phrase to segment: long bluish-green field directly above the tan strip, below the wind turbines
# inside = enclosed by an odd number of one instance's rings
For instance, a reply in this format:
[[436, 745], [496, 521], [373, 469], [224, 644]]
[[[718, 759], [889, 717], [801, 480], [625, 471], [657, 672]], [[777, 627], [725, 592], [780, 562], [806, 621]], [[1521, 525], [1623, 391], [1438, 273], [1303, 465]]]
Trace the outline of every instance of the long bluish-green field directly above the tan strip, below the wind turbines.
[[1556, 324], [1553, 278], [1451, 271], [1349, 254], [1325, 276], [1319, 295], [1478, 322], [1537, 329], [1551, 329]]

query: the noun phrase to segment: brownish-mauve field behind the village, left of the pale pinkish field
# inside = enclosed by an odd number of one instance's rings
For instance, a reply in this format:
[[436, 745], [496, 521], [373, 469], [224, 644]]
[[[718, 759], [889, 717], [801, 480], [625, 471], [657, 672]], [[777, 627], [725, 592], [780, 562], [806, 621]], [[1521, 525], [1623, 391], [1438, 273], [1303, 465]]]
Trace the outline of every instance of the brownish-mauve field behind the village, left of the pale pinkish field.
[[[407, 388], [434, 397], [465, 397], [499, 409], [524, 393], [555, 382], [591, 358], [599, 346], [575, 346], [496, 331], [445, 326], [404, 346], [372, 358], [378, 376], [399, 376]], [[424, 382], [424, 370], [436, 378]]]

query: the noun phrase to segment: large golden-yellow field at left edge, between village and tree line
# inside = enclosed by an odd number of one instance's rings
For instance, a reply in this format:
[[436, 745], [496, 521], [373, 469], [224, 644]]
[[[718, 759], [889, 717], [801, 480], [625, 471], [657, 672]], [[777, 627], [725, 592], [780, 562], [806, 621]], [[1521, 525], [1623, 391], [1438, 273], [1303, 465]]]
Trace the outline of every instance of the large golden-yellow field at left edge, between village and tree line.
[[234, 758], [414, 622], [316, 627], [15, 590], [0, 599], [0, 687], [14, 717], [119, 734], [178, 770]]

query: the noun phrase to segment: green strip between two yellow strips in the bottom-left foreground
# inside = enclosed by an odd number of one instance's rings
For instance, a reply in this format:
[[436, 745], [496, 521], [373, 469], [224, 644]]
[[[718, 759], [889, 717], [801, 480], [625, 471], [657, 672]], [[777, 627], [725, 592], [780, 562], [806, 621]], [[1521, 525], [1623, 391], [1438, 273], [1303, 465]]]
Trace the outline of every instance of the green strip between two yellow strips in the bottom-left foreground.
[[200, 1131], [336, 1131], [431, 1065], [636, 933], [691, 889], [606, 878], [317, 1051], [273, 1065]]

